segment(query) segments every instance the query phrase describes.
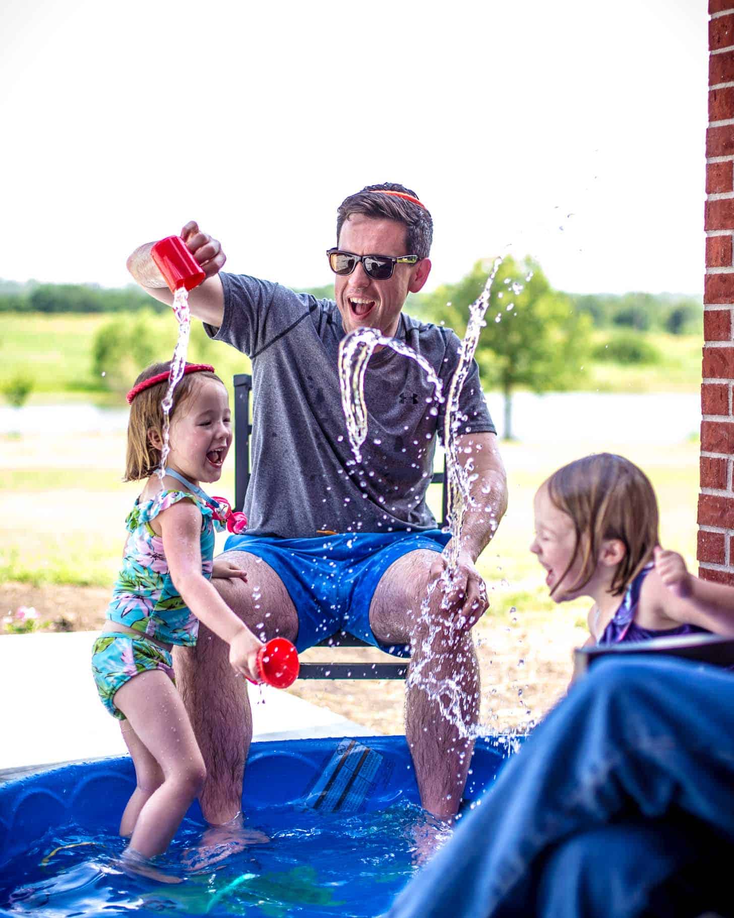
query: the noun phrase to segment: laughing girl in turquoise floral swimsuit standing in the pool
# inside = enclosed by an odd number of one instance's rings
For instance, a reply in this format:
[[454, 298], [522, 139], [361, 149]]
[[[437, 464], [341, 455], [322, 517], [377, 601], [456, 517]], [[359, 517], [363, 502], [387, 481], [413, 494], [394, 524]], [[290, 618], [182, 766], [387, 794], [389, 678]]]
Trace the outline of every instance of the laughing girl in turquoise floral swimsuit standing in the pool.
[[169, 366], [148, 367], [128, 393], [126, 480], [146, 481], [128, 516], [122, 569], [92, 657], [100, 698], [120, 721], [137, 777], [120, 823], [120, 834], [130, 836], [123, 862], [150, 875], [157, 875], [150, 858], [168, 847], [206, 777], [174, 687], [172, 644], [194, 645], [204, 621], [228, 642], [231, 666], [255, 681], [261, 647], [210, 583], [214, 532], [228, 508], [199, 482], [219, 479], [232, 441], [227, 389], [213, 367], [186, 364], [160, 478]]

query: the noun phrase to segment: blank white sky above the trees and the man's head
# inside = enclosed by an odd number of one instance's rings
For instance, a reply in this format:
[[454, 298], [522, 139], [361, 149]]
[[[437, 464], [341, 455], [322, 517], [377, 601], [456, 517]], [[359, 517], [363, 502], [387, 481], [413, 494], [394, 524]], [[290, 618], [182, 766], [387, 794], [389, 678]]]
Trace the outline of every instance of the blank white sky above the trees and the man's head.
[[562, 289], [698, 294], [706, 21], [705, 0], [14, 0], [0, 277], [125, 285], [128, 252], [196, 218], [228, 270], [326, 284], [341, 199], [397, 181], [434, 218], [427, 289], [510, 245]]

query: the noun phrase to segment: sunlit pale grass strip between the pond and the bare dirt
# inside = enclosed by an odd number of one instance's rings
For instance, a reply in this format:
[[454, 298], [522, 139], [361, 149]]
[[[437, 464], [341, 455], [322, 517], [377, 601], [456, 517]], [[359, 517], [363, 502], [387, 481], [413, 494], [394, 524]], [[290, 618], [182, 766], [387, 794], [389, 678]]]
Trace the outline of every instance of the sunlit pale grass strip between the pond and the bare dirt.
[[[490, 587], [492, 614], [506, 614], [512, 607], [533, 615], [554, 610], [544, 575], [528, 551], [533, 495], [559, 465], [601, 448], [628, 455], [649, 474], [661, 507], [662, 543], [682, 552], [695, 570], [697, 443], [506, 443], [509, 508], [479, 563]], [[0, 578], [34, 585], [111, 586], [124, 520], [139, 490], [120, 480], [124, 435], [6, 438], [1, 452]], [[231, 457], [218, 492], [234, 493]], [[437, 486], [429, 499], [438, 512]], [[219, 547], [224, 537], [217, 536]], [[582, 621], [587, 608], [586, 600], [577, 600], [565, 611]]]

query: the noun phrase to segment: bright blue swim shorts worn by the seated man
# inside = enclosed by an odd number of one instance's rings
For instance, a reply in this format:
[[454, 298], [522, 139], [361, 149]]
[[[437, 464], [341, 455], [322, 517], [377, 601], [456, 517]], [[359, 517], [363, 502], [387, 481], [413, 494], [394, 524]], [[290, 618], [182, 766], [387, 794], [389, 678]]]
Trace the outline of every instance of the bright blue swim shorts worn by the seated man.
[[450, 533], [340, 532], [316, 539], [231, 535], [225, 552], [255, 554], [281, 578], [298, 612], [300, 653], [343, 630], [396, 656], [406, 644], [381, 644], [370, 628], [370, 603], [380, 578], [398, 558], [426, 549], [440, 553]]

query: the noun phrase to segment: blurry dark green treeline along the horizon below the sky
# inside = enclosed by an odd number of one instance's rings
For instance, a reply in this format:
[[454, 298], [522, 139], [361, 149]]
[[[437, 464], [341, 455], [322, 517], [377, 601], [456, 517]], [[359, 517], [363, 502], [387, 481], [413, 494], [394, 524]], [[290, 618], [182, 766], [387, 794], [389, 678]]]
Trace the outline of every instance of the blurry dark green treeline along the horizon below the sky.
[[[296, 288], [315, 297], [333, 297], [333, 285]], [[639, 331], [695, 332], [703, 321], [703, 305], [696, 297], [677, 294], [626, 293], [567, 294], [574, 307], [587, 313], [596, 328], [615, 326]], [[420, 315], [430, 294], [410, 297], [408, 309]], [[0, 279], [0, 312], [92, 313], [156, 308], [155, 300], [139, 287], [109, 289], [93, 284], [18, 284]], [[435, 306], [432, 312], [435, 313]]]

